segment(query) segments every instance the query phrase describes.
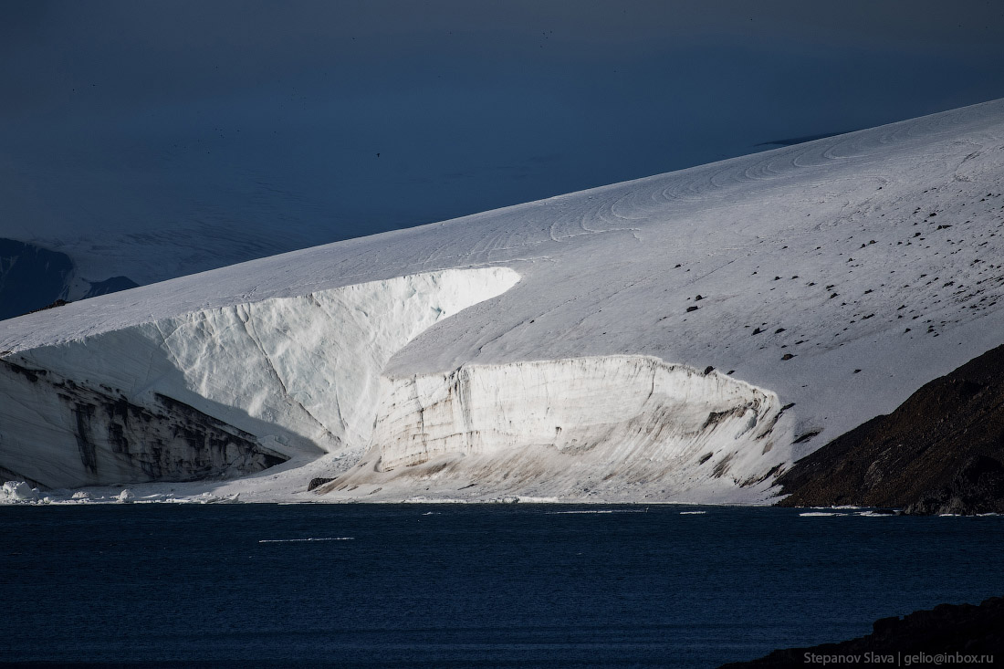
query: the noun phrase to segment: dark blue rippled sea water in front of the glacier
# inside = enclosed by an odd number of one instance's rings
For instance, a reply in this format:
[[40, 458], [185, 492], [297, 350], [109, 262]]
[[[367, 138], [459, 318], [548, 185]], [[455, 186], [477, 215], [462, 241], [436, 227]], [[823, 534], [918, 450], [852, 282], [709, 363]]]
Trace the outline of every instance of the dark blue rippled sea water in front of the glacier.
[[29, 666], [716, 667], [1004, 595], [1004, 517], [7, 506], [0, 536]]

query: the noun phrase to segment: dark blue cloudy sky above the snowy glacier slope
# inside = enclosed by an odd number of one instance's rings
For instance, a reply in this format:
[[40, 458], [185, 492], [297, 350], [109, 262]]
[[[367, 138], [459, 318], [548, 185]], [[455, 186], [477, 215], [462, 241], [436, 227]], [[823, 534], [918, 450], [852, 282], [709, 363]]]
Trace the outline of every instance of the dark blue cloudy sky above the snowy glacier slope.
[[242, 229], [240, 259], [1004, 96], [999, 0], [0, 16], [0, 236], [50, 246]]

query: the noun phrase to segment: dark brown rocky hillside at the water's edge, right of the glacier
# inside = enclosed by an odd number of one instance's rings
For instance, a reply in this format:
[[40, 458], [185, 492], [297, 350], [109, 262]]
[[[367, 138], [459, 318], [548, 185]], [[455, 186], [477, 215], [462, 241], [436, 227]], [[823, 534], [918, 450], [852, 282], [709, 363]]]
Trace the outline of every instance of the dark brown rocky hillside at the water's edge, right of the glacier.
[[782, 506], [1004, 512], [1004, 347], [993, 349], [799, 460]]

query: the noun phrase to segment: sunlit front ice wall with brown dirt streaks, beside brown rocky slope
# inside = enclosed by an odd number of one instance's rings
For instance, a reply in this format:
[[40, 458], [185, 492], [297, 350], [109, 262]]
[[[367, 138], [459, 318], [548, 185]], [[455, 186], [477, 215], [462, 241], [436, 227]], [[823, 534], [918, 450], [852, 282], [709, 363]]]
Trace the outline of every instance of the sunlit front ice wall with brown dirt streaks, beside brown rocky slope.
[[386, 380], [368, 451], [320, 491], [756, 501], [790, 456], [783, 413], [644, 356], [464, 366]]

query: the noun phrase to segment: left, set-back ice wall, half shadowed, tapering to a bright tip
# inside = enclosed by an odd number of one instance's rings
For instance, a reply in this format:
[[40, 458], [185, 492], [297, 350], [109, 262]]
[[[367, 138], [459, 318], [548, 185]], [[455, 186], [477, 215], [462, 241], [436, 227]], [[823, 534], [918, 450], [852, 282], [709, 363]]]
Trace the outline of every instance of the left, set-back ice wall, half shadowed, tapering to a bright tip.
[[350, 459], [369, 442], [391, 357], [518, 280], [506, 268], [443, 270], [8, 353], [0, 471], [71, 487], [239, 475], [323, 452]]

